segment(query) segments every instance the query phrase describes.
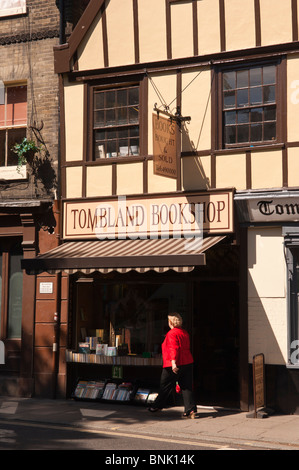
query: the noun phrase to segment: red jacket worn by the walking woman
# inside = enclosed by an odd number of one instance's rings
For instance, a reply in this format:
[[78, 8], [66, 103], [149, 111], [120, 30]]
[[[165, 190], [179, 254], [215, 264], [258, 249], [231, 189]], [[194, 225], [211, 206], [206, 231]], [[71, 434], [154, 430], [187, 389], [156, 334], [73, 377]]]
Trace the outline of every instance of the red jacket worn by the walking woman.
[[183, 328], [172, 328], [168, 331], [162, 343], [163, 367], [171, 367], [171, 361], [182, 366], [192, 364], [189, 334]]

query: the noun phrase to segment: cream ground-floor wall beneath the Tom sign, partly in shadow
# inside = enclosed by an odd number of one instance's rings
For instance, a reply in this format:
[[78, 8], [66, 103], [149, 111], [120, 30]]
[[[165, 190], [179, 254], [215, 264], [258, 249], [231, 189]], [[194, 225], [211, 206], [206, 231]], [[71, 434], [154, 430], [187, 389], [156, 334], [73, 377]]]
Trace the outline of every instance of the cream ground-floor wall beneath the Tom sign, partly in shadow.
[[249, 362], [287, 362], [286, 266], [281, 228], [248, 230]]

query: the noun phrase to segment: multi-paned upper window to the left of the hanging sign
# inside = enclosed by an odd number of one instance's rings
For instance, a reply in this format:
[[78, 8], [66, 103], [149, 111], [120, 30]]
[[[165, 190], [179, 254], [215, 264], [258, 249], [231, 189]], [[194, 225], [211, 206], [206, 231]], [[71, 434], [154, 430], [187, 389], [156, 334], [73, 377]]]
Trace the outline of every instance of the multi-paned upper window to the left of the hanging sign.
[[139, 86], [94, 89], [93, 159], [139, 155]]

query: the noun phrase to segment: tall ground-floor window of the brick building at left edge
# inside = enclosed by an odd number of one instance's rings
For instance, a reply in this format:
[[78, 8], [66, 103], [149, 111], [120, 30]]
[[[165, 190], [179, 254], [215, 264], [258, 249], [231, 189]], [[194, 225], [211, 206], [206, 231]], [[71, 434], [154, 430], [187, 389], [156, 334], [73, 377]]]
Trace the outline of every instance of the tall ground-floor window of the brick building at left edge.
[[21, 338], [23, 253], [19, 243], [0, 252], [0, 326], [1, 338]]

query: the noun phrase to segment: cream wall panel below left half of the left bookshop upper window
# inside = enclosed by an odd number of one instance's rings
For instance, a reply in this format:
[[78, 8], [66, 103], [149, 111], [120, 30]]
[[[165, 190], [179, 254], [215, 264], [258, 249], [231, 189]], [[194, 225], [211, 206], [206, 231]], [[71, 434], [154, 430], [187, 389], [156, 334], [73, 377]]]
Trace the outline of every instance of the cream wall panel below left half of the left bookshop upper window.
[[86, 169], [86, 196], [101, 197], [112, 194], [112, 165], [92, 166]]

